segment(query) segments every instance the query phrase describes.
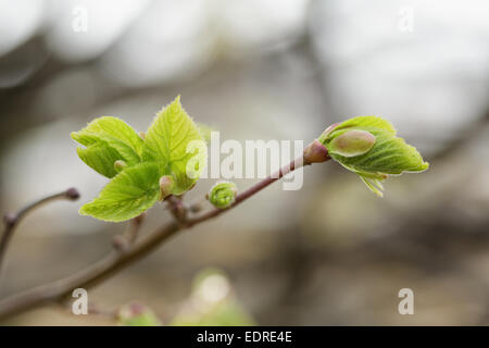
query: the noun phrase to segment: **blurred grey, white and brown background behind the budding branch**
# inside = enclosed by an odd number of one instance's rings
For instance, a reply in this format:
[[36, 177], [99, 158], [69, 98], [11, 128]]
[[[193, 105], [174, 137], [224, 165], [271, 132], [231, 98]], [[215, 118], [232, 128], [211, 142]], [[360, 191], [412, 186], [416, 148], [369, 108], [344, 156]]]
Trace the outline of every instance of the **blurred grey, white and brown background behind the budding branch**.
[[[489, 324], [488, 17], [484, 0], [0, 0], [0, 211], [82, 192], [23, 221], [0, 298], [82, 270], [124, 231], [77, 214], [106, 179], [70, 133], [100, 115], [143, 130], [180, 94], [222, 140], [309, 142], [375, 114], [430, 162], [385, 199], [313, 165], [301, 190], [275, 184], [89, 289], [98, 313], [1, 324], [113, 325], [101, 313], [134, 301], [164, 325]], [[154, 207], [142, 233], [168, 219]]]

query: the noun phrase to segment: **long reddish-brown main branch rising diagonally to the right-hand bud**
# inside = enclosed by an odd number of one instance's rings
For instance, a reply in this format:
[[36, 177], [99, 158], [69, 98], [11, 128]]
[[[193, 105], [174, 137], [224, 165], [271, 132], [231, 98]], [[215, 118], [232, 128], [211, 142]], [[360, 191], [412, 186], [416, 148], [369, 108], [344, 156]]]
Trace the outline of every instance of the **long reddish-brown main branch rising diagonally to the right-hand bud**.
[[178, 221], [171, 222], [166, 226], [163, 226], [143, 238], [140, 238], [140, 240], [127, 251], [113, 250], [102, 260], [68, 277], [27, 289], [23, 293], [3, 299], [0, 301], [0, 320], [45, 303], [63, 301], [63, 299], [65, 299], [76, 288], [88, 288], [97, 285], [101, 281], [114, 275], [117, 271], [124, 269], [128, 264], [147, 256], [160, 244], [168, 240], [177, 232], [190, 228], [199, 223], [215, 217], [225, 211], [228, 211], [254, 194], [261, 191], [272, 183], [281, 178], [284, 175], [299, 169], [303, 164], [310, 163], [303, 163], [302, 158], [292, 161], [278, 172], [256, 183], [241, 194], [238, 194], [235, 203], [226, 210], [213, 209], [198, 217], [188, 219], [185, 224]]

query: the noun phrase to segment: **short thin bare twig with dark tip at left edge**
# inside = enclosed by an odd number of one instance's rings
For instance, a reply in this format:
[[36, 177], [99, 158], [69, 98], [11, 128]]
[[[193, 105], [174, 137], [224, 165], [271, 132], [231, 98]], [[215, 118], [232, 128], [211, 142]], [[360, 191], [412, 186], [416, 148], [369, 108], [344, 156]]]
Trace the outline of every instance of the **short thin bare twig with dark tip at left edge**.
[[7, 213], [3, 216], [5, 229], [3, 231], [2, 238], [0, 240], [0, 274], [2, 272], [2, 266], [3, 266], [2, 261], [4, 259], [7, 249], [9, 247], [9, 243], [12, 239], [15, 228], [18, 226], [18, 224], [24, 219], [24, 216], [27, 215], [27, 213], [41, 207], [45, 203], [48, 203], [48, 202], [51, 202], [54, 200], [59, 200], [59, 199], [77, 200], [78, 198], [79, 198], [78, 190], [76, 188], [72, 187], [72, 188], [65, 189], [62, 192], [41, 198], [41, 199], [22, 208], [16, 213]]

